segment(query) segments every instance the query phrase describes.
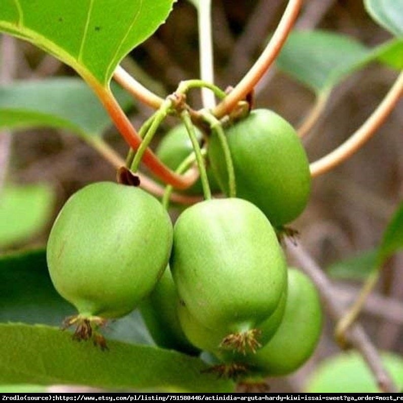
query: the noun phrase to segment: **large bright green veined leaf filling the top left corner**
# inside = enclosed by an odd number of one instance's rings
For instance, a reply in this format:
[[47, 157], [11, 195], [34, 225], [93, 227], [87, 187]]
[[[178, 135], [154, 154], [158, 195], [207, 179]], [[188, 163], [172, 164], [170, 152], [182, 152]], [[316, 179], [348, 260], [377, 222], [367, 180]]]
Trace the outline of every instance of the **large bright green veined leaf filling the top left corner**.
[[122, 58], [169, 15], [174, 0], [2, 0], [0, 30], [107, 86]]

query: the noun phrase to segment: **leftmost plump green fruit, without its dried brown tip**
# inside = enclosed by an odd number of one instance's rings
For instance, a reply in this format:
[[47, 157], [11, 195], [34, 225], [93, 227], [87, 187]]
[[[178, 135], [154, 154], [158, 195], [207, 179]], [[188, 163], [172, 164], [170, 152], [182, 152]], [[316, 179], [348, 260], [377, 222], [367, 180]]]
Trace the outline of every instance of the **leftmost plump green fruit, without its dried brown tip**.
[[123, 316], [162, 275], [172, 236], [155, 197], [132, 186], [90, 184], [69, 198], [53, 224], [50, 277], [82, 316]]

